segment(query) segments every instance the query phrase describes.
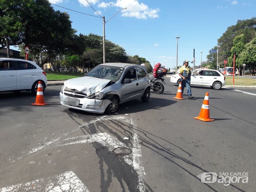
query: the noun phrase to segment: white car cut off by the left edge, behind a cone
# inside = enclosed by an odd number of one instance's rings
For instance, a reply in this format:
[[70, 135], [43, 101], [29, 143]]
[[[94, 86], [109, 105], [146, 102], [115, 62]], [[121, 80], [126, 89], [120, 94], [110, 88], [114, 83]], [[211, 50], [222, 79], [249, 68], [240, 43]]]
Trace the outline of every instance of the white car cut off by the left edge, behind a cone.
[[47, 86], [46, 73], [33, 61], [0, 58], [0, 92], [22, 90], [36, 94], [38, 81], [43, 91]]

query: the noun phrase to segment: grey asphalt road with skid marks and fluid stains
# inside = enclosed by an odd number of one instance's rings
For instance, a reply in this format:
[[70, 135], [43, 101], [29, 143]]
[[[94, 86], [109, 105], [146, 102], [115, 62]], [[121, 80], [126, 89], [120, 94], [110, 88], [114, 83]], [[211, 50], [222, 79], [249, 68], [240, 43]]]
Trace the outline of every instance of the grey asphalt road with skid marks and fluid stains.
[[[0, 192], [255, 191], [255, 89], [194, 86], [194, 99], [176, 100], [166, 82], [112, 116], [60, 105], [61, 86], [47, 87], [46, 106], [32, 106], [30, 92], [0, 93]], [[194, 119], [206, 92], [212, 122]], [[204, 172], [245, 172], [248, 183], [203, 183]]]

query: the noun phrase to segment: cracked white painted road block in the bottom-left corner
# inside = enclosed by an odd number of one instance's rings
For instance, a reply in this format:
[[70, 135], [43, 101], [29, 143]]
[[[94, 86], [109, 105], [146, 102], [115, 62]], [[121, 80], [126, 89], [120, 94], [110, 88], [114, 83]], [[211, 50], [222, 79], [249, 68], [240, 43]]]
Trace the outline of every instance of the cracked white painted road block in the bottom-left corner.
[[72, 171], [67, 171], [55, 177], [47, 179], [38, 179], [27, 182], [25, 184], [19, 183], [9, 187], [3, 187], [0, 192], [90, 192], [84, 183]]

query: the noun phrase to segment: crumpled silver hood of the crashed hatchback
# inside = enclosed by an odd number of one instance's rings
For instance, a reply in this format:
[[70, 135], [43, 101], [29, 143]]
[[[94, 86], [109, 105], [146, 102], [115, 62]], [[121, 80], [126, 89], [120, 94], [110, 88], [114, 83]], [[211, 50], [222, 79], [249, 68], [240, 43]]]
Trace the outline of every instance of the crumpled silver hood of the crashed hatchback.
[[110, 81], [109, 79], [84, 76], [66, 80], [64, 87], [76, 89], [86, 95], [91, 95], [101, 91]]

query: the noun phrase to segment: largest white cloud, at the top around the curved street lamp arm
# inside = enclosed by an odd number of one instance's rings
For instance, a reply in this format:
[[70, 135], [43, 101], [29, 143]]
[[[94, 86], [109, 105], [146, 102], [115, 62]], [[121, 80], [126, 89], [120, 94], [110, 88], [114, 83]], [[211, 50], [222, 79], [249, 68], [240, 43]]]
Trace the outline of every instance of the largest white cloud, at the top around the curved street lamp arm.
[[[82, 1], [82, 0], [79, 0]], [[117, 0], [116, 3], [114, 2], [101, 2], [98, 4], [98, 8], [108, 8], [108, 7], [117, 7], [118, 9], [122, 10], [123, 17], [136, 17], [138, 19], [147, 19], [149, 18], [157, 18], [159, 17], [158, 12], [160, 11], [159, 8], [152, 9], [149, 8], [144, 3], [139, 3], [138, 0]]]

